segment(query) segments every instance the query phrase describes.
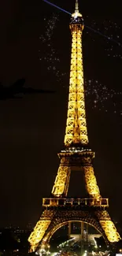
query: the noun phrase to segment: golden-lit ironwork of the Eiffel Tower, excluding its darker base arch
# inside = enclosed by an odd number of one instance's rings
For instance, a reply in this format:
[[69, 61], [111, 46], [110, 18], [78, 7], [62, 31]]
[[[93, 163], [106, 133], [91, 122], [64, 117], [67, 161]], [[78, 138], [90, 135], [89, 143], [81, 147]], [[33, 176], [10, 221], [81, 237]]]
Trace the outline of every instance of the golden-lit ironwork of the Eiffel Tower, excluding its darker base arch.
[[[82, 32], [83, 32], [83, 17], [79, 13], [78, 0], [76, 0], [76, 10], [72, 14], [70, 29], [72, 32], [72, 54], [71, 54], [71, 69], [69, 81], [68, 95], [68, 115], [65, 129], [65, 150], [58, 154], [61, 159], [61, 164], [57, 171], [57, 176], [52, 190], [53, 198], [50, 198], [51, 207], [54, 203], [54, 209], [58, 210], [58, 200], [67, 198], [68, 185], [72, 166], [80, 167], [84, 173], [88, 198], [92, 203], [91, 207], [100, 206], [102, 196], [98, 188], [97, 180], [94, 175], [92, 158], [94, 152], [88, 148], [87, 136], [87, 120], [85, 110], [84, 83], [83, 83], [83, 53], [82, 53]], [[74, 162], [75, 161], [75, 165]], [[107, 198], [108, 200], [108, 198]], [[60, 202], [60, 201], [59, 201]], [[94, 206], [93, 206], [94, 202]], [[109, 205], [107, 205], [109, 206]], [[39, 221], [35, 225], [33, 232], [29, 236], [31, 251], [35, 251], [41, 243], [41, 247], [45, 245], [48, 235], [51, 236], [51, 221], [54, 219], [57, 210], [44, 210]], [[66, 212], [65, 212], [66, 213]], [[116, 231], [113, 221], [109, 217], [109, 213], [105, 210], [105, 206], [101, 206], [101, 210], [95, 210], [96, 217], [102, 235], [108, 239], [110, 243], [115, 243], [120, 240], [120, 235]], [[54, 219], [57, 221], [56, 219]], [[74, 220], [75, 221], [75, 220]], [[61, 223], [60, 223], [61, 224]]]

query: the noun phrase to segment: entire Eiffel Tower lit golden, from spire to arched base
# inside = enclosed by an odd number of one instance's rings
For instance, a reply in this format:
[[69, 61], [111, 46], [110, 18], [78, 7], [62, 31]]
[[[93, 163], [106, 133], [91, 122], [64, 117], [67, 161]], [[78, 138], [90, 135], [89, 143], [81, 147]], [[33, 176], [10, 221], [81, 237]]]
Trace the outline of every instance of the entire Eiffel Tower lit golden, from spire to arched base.
[[[54, 232], [73, 221], [94, 226], [108, 246], [113, 246], [120, 240], [107, 211], [109, 200], [102, 198], [98, 188], [92, 165], [94, 152], [88, 143], [83, 86], [83, 17], [79, 13], [78, 0], [69, 27], [72, 33], [72, 54], [65, 147], [58, 154], [61, 163], [52, 189], [52, 198], [43, 198], [42, 216], [28, 238], [30, 251], [47, 248]], [[67, 197], [72, 170], [83, 172], [87, 198]]]

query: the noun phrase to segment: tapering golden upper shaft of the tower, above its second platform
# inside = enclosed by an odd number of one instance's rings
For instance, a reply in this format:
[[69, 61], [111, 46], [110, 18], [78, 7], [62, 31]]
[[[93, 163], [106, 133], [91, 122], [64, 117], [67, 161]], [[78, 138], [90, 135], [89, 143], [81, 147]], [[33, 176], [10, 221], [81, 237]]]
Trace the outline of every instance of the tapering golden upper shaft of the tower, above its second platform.
[[[73, 25], [72, 25], [73, 26]], [[72, 27], [73, 28], [73, 27]], [[68, 117], [65, 130], [65, 146], [72, 143], [88, 143], [87, 121], [83, 86], [82, 29], [72, 29], [72, 54], [68, 95]]]

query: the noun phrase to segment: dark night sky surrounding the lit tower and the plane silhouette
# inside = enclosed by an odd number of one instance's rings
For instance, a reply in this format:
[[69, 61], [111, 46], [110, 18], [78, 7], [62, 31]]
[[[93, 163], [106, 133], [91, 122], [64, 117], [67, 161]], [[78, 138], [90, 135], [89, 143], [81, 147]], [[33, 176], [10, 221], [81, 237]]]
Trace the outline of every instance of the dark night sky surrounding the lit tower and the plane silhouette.
[[[55, 4], [74, 10], [74, 0], [55, 0]], [[111, 20], [122, 26], [119, 2], [79, 1], [83, 17], [91, 26]], [[57, 76], [48, 72], [48, 63], [39, 61], [46, 43], [39, 39], [47, 29], [47, 21], [56, 13], [58, 21], [51, 35], [57, 69], [66, 72]], [[59, 161], [57, 153], [63, 147], [68, 96], [71, 37], [69, 16], [41, 0], [6, 0], [0, 2], [0, 81], [9, 86], [24, 77], [29, 87], [56, 91], [53, 95], [25, 95], [0, 101], [0, 226], [9, 223], [25, 226], [35, 224], [42, 212], [42, 198], [50, 196]], [[101, 31], [104, 33], [104, 31]], [[108, 32], [109, 33], [109, 32]], [[114, 32], [113, 32], [114, 33]], [[122, 39], [122, 35], [121, 39]], [[94, 39], [94, 43], [92, 42]], [[121, 59], [108, 58], [104, 52], [106, 39], [94, 32], [83, 34], [84, 75], [87, 80], [99, 80], [115, 91], [121, 91]], [[122, 43], [122, 40], [121, 40]], [[113, 44], [113, 42], [111, 43]], [[114, 45], [114, 51], [122, 48]], [[103, 54], [104, 52], [104, 54]], [[92, 98], [92, 97], [91, 97]], [[113, 99], [112, 99], [113, 100]], [[116, 98], [122, 102], [121, 98]], [[92, 150], [96, 152], [94, 169], [102, 196], [109, 197], [109, 212], [122, 224], [122, 117], [120, 105], [113, 113], [110, 102], [100, 111], [87, 100], [87, 124]], [[74, 176], [74, 194], [80, 194]], [[72, 182], [71, 182], [72, 185]], [[78, 188], [75, 188], [78, 187]], [[73, 186], [70, 188], [73, 195]]]

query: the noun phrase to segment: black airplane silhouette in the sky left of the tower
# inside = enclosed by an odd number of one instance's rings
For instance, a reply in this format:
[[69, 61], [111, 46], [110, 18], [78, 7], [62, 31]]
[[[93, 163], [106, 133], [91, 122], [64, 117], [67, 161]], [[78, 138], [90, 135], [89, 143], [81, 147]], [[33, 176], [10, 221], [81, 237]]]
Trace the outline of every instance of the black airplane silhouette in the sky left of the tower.
[[54, 91], [34, 89], [31, 87], [24, 87], [25, 79], [21, 78], [9, 87], [3, 87], [0, 83], [0, 100], [6, 100], [9, 98], [20, 98], [20, 95], [32, 95], [32, 94], [50, 94]]

